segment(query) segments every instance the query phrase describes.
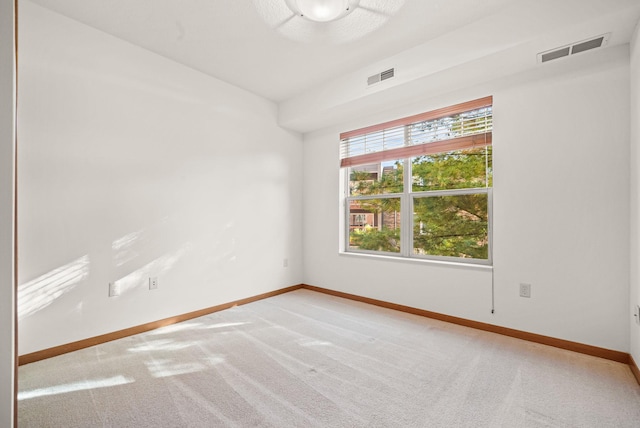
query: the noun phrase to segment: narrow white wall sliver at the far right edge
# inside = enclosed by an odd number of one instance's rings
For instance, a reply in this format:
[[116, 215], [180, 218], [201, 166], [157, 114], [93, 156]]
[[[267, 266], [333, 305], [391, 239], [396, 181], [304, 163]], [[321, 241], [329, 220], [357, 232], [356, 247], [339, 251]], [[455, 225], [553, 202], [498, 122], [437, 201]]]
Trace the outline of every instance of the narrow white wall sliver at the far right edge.
[[[630, 311], [640, 305], [640, 23], [631, 39], [631, 281]], [[640, 364], [640, 320], [631, 317], [631, 356]]]

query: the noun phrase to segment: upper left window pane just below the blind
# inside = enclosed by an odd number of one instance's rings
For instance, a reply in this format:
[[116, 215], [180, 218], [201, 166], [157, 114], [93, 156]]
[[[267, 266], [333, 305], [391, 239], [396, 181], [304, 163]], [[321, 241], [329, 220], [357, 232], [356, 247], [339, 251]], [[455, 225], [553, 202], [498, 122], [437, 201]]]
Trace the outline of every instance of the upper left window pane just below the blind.
[[349, 168], [351, 196], [402, 193], [402, 160], [386, 161]]

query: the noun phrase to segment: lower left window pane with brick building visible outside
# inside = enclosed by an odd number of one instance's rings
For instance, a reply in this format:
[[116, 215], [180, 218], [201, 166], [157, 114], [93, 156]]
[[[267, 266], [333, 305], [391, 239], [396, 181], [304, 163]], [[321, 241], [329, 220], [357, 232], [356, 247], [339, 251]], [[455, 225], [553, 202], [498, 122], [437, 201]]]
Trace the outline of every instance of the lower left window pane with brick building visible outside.
[[349, 203], [349, 249], [400, 252], [400, 198]]

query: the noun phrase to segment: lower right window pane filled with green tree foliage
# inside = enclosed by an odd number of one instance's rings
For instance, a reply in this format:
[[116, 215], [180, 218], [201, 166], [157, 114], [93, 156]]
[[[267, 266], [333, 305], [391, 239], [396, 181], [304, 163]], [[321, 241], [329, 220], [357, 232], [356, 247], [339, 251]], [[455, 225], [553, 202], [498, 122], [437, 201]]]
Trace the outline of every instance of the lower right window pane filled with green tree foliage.
[[413, 200], [413, 254], [489, 258], [486, 193]]

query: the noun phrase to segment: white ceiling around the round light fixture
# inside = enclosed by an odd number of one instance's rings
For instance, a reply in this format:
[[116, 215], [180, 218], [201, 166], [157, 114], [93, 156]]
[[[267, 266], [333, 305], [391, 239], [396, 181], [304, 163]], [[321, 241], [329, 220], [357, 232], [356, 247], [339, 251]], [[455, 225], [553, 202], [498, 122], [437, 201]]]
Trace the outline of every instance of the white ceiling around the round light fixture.
[[[285, 0], [29, 1], [273, 100], [281, 123], [299, 131], [321, 125], [310, 115], [483, 59], [484, 73], [504, 74], [603, 32], [609, 46], [627, 43], [640, 19], [640, 0], [359, 0], [325, 24], [295, 16]], [[361, 82], [386, 67], [397, 79], [364, 92]]]

